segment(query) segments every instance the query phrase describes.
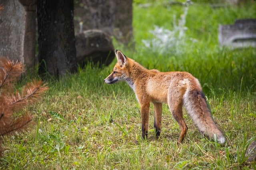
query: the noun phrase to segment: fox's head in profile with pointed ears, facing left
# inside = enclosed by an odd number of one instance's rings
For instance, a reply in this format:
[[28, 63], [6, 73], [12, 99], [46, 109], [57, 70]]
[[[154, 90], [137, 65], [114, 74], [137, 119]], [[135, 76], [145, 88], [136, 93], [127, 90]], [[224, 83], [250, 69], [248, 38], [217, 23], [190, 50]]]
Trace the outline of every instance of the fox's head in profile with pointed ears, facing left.
[[[126, 81], [131, 83], [129, 77], [129, 58], [126, 57], [121, 51], [115, 50], [117, 63], [113, 68], [112, 73], [104, 79], [107, 84], [114, 84], [116, 82]], [[130, 84], [131, 85], [131, 84]]]

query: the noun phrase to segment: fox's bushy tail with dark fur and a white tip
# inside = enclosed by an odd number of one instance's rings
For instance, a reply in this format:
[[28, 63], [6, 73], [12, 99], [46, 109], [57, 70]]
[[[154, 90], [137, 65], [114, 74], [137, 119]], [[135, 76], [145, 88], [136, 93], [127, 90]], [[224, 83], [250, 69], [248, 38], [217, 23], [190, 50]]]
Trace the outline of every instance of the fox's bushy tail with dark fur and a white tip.
[[224, 143], [223, 132], [217, 127], [212, 117], [206, 98], [200, 89], [187, 89], [183, 97], [184, 106], [199, 131], [212, 139], [217, 137], [218, 143]]

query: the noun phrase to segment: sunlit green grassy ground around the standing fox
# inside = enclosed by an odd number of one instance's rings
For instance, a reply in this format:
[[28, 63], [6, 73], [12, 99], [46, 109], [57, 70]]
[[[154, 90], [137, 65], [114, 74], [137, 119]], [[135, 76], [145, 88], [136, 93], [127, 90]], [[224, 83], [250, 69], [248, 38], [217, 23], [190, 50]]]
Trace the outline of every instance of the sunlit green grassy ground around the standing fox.
[[[184, 114], [188, 134], [182, 145], [176, 145], [180, 129], [166, 105], [160, 139], [153, 138], [151, 106], [149, 140], [142, 141], [140, 107], [132, 89], [124, 82], [103, 82], [113, 61], [103, 69], [88, 65], [77, 74], [48, 80], [50, 90], [42, 101], [25, 110], [34, 114], [32, 128], [4, 139], [1, 169], [256, 168], [244, 156], [256, 137], [256, 49], [222, 48], [217, 38], [218, 24], [255, 18], [256, 4], [212, 8], [194, 2], [186, 8], [167, 1], [149, 7], [134, 2], [136, 49], [115, 43], [116, 49], [147, 68], [196, 76], [226, 143], [202, 138]], [[154, 25], [169, 30], [165, 43], [154, 35]]]

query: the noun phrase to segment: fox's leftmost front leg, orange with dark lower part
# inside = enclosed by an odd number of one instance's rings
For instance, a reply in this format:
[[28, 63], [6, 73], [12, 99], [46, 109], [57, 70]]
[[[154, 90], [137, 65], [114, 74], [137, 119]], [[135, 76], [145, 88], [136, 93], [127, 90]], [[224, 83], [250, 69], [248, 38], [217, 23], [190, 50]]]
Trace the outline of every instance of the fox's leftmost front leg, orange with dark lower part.
[[150, 103], [142, 104], [140, 106], [141, 131], [142, 131], [142, 138], [143, 139], [147, 139], [147, 137], [148, 137], [149, 107], [150, 107]]

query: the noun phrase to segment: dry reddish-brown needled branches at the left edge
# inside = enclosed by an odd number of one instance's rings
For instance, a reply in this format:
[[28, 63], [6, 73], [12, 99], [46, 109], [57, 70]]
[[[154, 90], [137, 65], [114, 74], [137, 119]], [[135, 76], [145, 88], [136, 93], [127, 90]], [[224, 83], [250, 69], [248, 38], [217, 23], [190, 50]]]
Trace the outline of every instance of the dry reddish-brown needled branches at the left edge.
[[[14, 113], [37, 101], [40, 94], [48, 90], [41, 80], [33, 80], [28, 82], [22, 90], [14, 91], [14, 84], [23, 72], [23, 64], [0, 57], [0, 137], [20, 130], [32, 121], [32, 115], [29, 113], [19, 117], [14, 116]], [[0, 146], [0, 154], [1, 150]]]

